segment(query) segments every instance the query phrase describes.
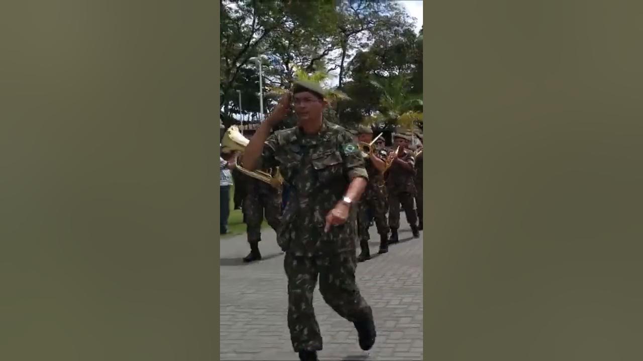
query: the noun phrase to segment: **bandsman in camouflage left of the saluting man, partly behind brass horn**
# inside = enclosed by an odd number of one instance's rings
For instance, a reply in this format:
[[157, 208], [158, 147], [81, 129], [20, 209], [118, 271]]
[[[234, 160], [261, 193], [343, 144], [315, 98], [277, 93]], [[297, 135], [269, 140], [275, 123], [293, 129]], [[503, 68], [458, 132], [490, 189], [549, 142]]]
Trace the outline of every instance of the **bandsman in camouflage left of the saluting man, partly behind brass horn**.
[[[230, 166], [236, 168], [236, 162], [231, 162]], [[239, 171], [237, 170], [237, 172]], [[269, 173], [269, 170], [263, 170], [263, 172]], [[261, 224], [264, 222], [265, 216], [268, 225], [278, 232], [282, 194], [280, 189], [249, 175], [240, 173], [240, 178], [244, 186], [243, 213], [250, 245], [250, 253], [243, 258], [243, 261], [258, 261], [261, 260], [261, 252], [259, 251]]]

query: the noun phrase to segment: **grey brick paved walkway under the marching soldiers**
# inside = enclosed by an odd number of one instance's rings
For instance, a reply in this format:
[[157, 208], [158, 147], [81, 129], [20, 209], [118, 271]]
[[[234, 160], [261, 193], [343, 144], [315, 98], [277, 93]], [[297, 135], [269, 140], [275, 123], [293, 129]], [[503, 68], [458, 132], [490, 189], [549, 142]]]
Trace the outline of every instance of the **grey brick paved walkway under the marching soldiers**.
[[[323, 337], [320, 360], [422, 360], [422, 240], [413, 239], [404, 215], [400, 243], [377, 255], [379, 236], [371, 227], [371, 253], [359, 263], [358, 286], [372, 306], [377, 339], [362, 351], [353, 325], [314, 295]], [[264, 229], [264, 260], [244, 264], [245, 235], [221, 241], [221, 360], [298, 360], [286, 324], [284, 256], [275, 232]], [[422, 232], [421, 232], [422, 236]]]

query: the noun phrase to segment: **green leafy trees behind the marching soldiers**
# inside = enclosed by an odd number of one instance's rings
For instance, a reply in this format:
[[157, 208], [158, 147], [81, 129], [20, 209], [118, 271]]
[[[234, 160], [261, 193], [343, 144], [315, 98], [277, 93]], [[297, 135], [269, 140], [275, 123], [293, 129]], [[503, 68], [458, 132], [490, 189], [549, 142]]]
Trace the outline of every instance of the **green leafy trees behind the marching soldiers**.
[[[325, 115], [336, 123], [351, 127], [367, 118], [419, 125], [422, 32], [415, 34], [408, 15], [394, 1], [224, 0], [223, 113], [258, 113], [258, 69], [251, 58], [262, 57], [266, 113], [293, 80], [305, 79], [329, 89], [331, 107]], [[339, 87], [331, 89], [329, 80]], [[283, 125], [294, 124], [289, 116]]]

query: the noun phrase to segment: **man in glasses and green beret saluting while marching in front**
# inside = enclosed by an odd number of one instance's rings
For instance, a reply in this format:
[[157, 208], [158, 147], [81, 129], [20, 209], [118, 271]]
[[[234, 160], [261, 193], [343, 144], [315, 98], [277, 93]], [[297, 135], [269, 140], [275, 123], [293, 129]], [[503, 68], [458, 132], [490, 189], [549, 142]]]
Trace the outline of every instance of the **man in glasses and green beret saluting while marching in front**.
[[[269, 136], [293, 98], [298, 126]], [[326, 121], [323, 90], [298, 82], [260, 125], [246, 146], [248, 169], [280, 167], [290, 186], [278, 243], [285, 251], [288, 277], [288, 328], [300, 360], [317, 360], [322, 348], [312, 308], [317, 279], [324, 301], [354, 324], [359, 345], [372, 348], [375, 323], [356, 285], [357, 211], [353, 206], [368, 174], [358, 145], [344, 128]]]

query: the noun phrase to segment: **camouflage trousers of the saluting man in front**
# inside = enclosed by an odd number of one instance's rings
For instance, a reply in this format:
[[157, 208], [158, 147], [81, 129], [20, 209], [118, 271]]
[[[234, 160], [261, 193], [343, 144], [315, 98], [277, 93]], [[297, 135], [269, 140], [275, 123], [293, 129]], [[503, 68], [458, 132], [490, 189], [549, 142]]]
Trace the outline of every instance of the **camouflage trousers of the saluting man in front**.
[[286, 252], [288, 328], [295, 352], [318, 351], [323, 346], [312, 308], [318, 277], [321, 297], [338, 315], [350, 322], [373, 317], [372, 309], [359, 293], [355, 280], [356, 266], [354, 251], [315, 257], [294, 256]]

